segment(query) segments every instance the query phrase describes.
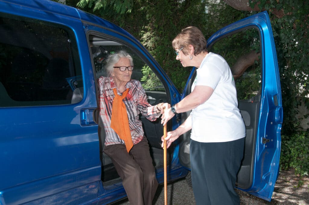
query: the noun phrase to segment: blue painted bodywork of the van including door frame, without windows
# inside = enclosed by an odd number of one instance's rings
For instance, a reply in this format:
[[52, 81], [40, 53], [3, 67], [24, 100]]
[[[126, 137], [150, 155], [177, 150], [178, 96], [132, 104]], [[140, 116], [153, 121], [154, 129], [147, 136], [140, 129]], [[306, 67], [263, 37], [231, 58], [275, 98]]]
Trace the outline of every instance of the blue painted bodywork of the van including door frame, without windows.
[[[39, 19], [69, 27], [74, 31], [79, 52], [79, 61], [83, 74], [84, 97], [76, 104], [0, 107], [2, 130], [0, 136], [0, 205], [8, 204], [108, 204], [126, 196], [120, 183], [104, 187], [101, 183], [101, 163], [99, 158], [98, 125], [94, 122], [92, 112], [97, 107], [95, 94], [95, 74], [91, 64], [91, 55], [87, 44], [87, 35], [99, 32], [122, 40], [132, 49], [137, 50], [146, 62], [155, 68], [167, 87], [171, 104], [180, 101], [181, 94], [164, 73], [150, 53], [128, 32], [95, 15], [43, 0], [0, 0], [0, 13]], [[264, 15], [264, 16], [263, 16]], [[257, 26], [264, 31], [265, 13], [255, 17]], [[239, 24], [240, 25], [240, 24]], [[237, 23], [234, 27], [239, 26]], [[270, 24], [266, 25], [270, 28]], [[229, 32], [228, 28], [218, 31], [209, 40], [212, 43], [220, 35]], [[1, 33], [0, 33], [1, 35]], [[262, 37], [265, 44], [265, 61], [274, 61], [272, 72], [265, 76], [266, 81], [278, 79], [275, 48], [271, 30]], [[267, 42], [266, 42], [267, 41]], [[272, 53], [270, 55], [268, 52]], [[273, 71], [271, 71], [273, 70]], [[277, 138], [276, 144], [263, 147], [257, 145], [255, 184], [252, 194], [270, 200], [277, 177], [280, 155], [280, 128], [282, 123], [280, 83], [265, 87], [262, 92], [263, 106], [261, 112], [269, 113], [260, 119], [260, 135], [267, 134]], [[270, 103], [277, 95], [279, 106]], [[276, 119], [271, 125], [269, 120]], [[265, 126], [265, 124], [267, 126]], [[179, 126], [176, 117], [172, 119], [172, 128]], [[260, 140], [260, 139], [259, 139]], [[178, 159], [178, 146], [175, 147], [168, 180], [183, 178], [188, 170]], [[270, 152], [275, 152], [269, 157]], [[263, 166], [264, 165], [264, 166]], [[264, 168], [263, 168], [264, 167]], [[270, 168], [269, 168], [270, 167]], [[262, 169], [262, 170], [261, 170]], [[259, 176], [263, 173], [262, 177]], [[159, 183], [163, 182], [163, 168], [156, 170]]]

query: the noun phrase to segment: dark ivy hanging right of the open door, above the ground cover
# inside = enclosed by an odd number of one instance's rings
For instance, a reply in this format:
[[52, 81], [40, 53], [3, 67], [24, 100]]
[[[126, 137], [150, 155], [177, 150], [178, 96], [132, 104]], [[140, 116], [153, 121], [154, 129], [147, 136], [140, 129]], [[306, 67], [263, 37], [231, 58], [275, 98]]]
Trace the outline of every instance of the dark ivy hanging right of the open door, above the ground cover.
[[[290, 135], [300, 129], [297, 98], [309, 96], [309, 4], [305, 0], [279, 0], [262, 2], [260, 6], [269, 10], [272, 20], [284, 110], [282, 132]], [[284, 15], [278, 18], [274, 10], [284, 11]]]

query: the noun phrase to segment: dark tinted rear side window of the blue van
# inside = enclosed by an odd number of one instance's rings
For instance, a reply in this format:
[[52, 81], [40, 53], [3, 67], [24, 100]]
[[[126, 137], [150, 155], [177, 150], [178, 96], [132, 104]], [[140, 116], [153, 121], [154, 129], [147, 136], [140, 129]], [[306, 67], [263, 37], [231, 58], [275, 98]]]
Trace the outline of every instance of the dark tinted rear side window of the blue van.
[[70, 104], [82, 87], [70, 28], [0, 14], [0, 107]]

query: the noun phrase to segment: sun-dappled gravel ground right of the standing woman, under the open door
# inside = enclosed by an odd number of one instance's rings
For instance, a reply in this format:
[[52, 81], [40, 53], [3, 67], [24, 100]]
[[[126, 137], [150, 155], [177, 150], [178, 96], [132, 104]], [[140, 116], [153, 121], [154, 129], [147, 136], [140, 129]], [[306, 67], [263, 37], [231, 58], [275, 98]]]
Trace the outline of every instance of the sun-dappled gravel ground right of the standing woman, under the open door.
[[295, 176], [293, 169], [280, 172], [270, 202], [240, 190], [236, 192], [241, 205], [309, 205], [309, 177]]

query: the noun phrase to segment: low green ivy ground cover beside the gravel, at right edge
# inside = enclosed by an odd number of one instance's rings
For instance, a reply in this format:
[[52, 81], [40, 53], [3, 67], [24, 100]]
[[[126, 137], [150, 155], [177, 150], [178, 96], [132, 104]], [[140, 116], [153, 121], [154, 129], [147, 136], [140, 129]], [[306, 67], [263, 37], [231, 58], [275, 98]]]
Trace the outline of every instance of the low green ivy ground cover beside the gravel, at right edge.
[[281, 136], [280, 169], [293, 167], [295, 174], [308, 175], [309, 134], [299, 132], [292, 136]]

